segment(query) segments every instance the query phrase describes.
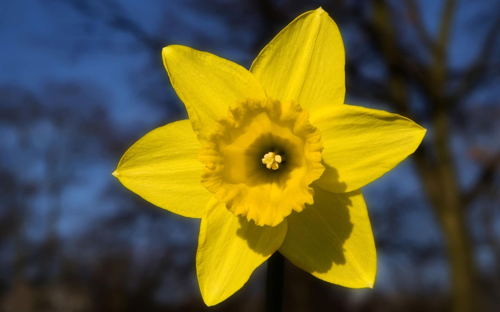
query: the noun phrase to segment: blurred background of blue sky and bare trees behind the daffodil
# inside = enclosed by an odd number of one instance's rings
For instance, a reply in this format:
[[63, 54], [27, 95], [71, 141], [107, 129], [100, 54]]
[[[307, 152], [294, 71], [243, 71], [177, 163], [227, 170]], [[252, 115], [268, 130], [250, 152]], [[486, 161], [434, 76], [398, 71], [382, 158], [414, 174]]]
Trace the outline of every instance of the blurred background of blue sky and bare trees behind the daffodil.
[[374, 289], [287, 262], [284, 311], [500, 311], [498, 0], [1, 0], [0, 311], [262, 311], [265, 265], [206, 308], [199, 220], [148, 204], [111, 172], [149, 130], [187, 117], [163, 46], [249, 68], [320, 5], [344, 40], [346, 102], [428, 131], [362, 189]]

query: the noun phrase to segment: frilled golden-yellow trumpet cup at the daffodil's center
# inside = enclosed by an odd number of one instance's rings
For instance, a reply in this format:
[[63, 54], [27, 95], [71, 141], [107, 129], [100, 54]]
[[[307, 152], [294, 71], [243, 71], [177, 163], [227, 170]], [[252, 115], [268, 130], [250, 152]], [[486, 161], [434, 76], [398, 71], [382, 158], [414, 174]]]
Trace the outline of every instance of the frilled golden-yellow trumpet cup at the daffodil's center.
[[245, 99], [217, 121], [199, 150], [201, 185], [234, 215], [276, 226], [313, 203], [309, 185], [324, 170], [320, 139], [298, 103]]

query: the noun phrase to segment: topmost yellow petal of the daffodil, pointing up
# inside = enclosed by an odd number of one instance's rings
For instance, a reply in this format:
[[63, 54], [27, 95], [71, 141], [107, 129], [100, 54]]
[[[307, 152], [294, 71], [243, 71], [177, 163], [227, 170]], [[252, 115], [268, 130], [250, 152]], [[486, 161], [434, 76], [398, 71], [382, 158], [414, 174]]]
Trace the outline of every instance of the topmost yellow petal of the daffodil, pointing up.
[[295, 18], [267, 44], [250, 71], [267, 96], [297, 101], [312, 112], [343, 104], [344, 48], [335, 22], [322, 8]]

